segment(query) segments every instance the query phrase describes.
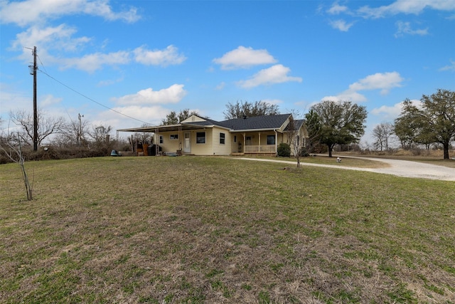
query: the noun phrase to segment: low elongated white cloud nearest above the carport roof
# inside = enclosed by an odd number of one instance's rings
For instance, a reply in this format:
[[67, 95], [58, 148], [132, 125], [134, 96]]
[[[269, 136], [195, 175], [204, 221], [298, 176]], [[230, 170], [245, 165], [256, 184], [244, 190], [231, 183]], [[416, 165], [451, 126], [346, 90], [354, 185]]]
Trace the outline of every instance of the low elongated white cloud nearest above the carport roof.
[[186, 95], [183, 85], [171, 85], [169, 88], [154, 91], [152, 88], [140, 90], [136, 94], [124, 95], [112, 100], [119, 105], [151, 105], [178, 103]]

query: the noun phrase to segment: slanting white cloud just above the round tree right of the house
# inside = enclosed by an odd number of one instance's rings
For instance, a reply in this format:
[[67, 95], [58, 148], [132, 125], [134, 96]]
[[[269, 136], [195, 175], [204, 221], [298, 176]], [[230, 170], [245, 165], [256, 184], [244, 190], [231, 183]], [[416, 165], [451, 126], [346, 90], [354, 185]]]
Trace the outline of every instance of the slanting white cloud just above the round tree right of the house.
[[401, 87], [403, 80], [400, 73], [397, 72], [375, 73], [349, 85], [348, 90], [345, 90], [338, 95], [326, 96], [322, 98], [322, 100], [351, 100], [354, 103], [363, 103], [367, 99], [364, 95], [358, 93], [358, 91], [380, 90], [382, 95], [386, 95], [392, 88]]

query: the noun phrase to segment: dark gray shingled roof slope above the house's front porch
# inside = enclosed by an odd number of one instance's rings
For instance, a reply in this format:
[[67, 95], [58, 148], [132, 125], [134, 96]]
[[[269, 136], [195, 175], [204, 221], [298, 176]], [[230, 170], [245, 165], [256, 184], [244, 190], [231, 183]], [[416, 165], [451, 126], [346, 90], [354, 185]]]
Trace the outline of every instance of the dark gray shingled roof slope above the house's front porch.
[[224, 120], [216, 125], [228, 127], [231, 130], [259, 130], [259, 129], [278, 129], [282, 127], [284, 122], [291, 114], [255, 116], [246, 118], [235, 118], [232, 120]]

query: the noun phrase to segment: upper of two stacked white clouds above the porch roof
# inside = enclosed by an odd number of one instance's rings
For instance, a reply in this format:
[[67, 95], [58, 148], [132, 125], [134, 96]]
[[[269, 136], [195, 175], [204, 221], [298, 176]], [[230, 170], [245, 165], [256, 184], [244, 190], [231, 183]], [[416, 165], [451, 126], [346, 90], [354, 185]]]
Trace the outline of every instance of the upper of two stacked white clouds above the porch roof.
[[214, 63], [220, 64], [223, 70], [235, 68], [250, 68], [253, 65], [276, 63], [277, 60], [267, 50], [253, 50], [239, 46], [235, 50], [225, 53], [221, 58], [213, 59]]

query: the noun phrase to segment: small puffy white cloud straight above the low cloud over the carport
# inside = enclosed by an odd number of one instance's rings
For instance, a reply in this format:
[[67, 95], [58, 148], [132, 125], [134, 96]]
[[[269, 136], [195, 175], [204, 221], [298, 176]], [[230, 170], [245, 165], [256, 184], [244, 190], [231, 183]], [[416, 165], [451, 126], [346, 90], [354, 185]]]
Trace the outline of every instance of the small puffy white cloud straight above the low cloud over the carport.
[[134, 51], [135, 60], [144, 65], [176, 65], [183, 63], [186, 57], [178, 53], [175, 46], [168, 46], [164, 50], [149, 51], [144, 46]]

